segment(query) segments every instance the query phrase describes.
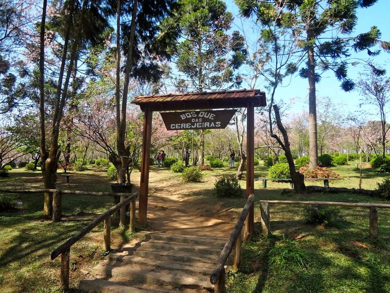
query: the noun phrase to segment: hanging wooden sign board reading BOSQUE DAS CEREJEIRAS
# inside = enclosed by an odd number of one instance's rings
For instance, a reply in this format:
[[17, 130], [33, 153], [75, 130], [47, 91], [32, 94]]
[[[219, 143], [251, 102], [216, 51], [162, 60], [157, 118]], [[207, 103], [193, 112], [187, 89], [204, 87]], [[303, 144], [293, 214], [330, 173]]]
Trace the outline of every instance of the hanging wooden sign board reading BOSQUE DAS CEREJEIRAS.
[[167, 130], [225, 128], [232, 119], [233, 110], [205, 110], [186, 112], [160, 112]]

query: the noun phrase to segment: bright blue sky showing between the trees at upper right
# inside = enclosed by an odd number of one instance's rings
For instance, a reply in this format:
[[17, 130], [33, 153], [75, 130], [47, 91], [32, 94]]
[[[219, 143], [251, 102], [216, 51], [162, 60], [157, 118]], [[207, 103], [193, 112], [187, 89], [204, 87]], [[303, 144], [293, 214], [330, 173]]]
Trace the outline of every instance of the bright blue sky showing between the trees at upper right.
[[[232, 1], [226, 2], [228, 10], [236, 14], [238, 12]], [[381, 31], [381, 39], [390, 41], [390, 29], [389, 16], [390, 5], [388, 0], [378, 0], [372, 7], [366, 9], [358, 9], [358, 24], [355, 27], [355, 34], [358, 35], [363, 32], [368, 32], [373, 25], [377, 26]], [[239, 16], [235, 15], [235, 21], [239, 21]], [[234, 29], [234, 27], [233, 27]], [[357, 57], [360, 59], [368, 59], [366, 52], [355, 54], [351, 57]], [[387, 66], [390, 60], [390, 54], [381, 52], [379, 56], [371, 58], [374, 63], [382, 65], [384, 69], [388, 71], [390, 75], [390, 68]], [[386, 65], [386, 66], [385, 66]], [[351, 79], [358, 78], [358, 72], [363, 71], [362, 66], [349, 66], [348, 76]], [[261, 85], [256, 87], [264, 90]], [[341, 112], [346, 115], [347, 112], [355, 111], [359, 109], [358, 104], [360, 98], [362, 98], [357, 91], [346, 93], [340, 88], [340, 82], [335, 78], [334, 74], [329, 71], [322, 75], [321, 82], [316, 85], [317, 101], [323, 96], [328, 96], [335, 104], [340, 104]], [[308, 81], [301, 79], [299, 76], [293, 77], [291, 83], [288, 86], [278, 88], [276, 92], [276, 101], [282, 99], [285, 103], [289, 103], [291, 99], [294, 99], [294, 104], [291, 107], [291, 111], [301, 112], [303, 110], [308, 111]], [[374, 114], [374, 113], [373, 113]]]

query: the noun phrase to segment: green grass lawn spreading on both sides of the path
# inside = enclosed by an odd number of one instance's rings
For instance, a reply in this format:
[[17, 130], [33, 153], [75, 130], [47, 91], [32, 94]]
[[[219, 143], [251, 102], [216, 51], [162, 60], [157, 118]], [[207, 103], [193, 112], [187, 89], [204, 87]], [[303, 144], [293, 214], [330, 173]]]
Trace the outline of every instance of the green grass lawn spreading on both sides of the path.
[[[237, 165], [237, 163], [236, 163]], [[183, 195], [189, 204], [232, 207], [237, 217], [245, 198], [215, 198], [212, 188], [216, 176], [233, 175], [235, 168], [215, 168], [204, 172], [201, 183], [193, 183], [191, 193]], [[330, 186], [358, 188], [359, 172], [354, 165], [331, 168], [344, 177]], [[74, 173], [69, 184], [58, 179], [59, 189], [110, 191], [107, 168], [89, 166], [85, 172]], [[260, 163], [255, 176], [267, 177], [268, 168]], [[389, 174], [363, 170], [362, 188], [375, 189], [376, 182]], [[167, 168], [151, 168], [151, 180], [161, 178], [180, 182], [181, 176]], [[138, 182], [136, 182], [138, 183]], [[323, 182], [310, 182], [323, 186]], [[245, 188], [246, 182], [240, 185]], [[43, 188], [41, 172], [12, 170], [9, 178], [1, 178], [2, 188]], [[282, 195], [288, 183], [255, 183], [255, 233], [244, 244], [242, 268], [227, 274], [227, 292], [390, 292], [390, 210], [378, 210], [379, 239], [369, 239], [369, 209], [341, 207], [339, 217], [324, 227], [306, 223], [303, 205], [270, 205], [272, 236], [259, 234], [259, 200], [316, 200], [335, 202], [383, 202], [379, 198], [352, 193], [312, 193]], [[1, 194], [0, 197], [4, 196]], [[81, 230], [96, 214], [112, 206], [112, 199], [66, 195], [59, 223], [43, 217], [43, 195], [7, 194], [23, 202], [16, 213], [0, 214], [0, 292], [61, 292], [59, 289], [60, 258], [50, 260], [53, 249]], [[138, 207], [137, 207], [138, 208]], [[71, 248], [69, 292], [78, 292], [78, 281], [105, 257], [103, 225], [99, 225]], [[145, 227], [144, 227], [145, 229]], [[129, 237], [124, 229], [113, 229], [112, 248], [119, 248]], [[292, 238], [292, 239], [290, 239]], [[351, 242], [352, 241], [352, 242]]]

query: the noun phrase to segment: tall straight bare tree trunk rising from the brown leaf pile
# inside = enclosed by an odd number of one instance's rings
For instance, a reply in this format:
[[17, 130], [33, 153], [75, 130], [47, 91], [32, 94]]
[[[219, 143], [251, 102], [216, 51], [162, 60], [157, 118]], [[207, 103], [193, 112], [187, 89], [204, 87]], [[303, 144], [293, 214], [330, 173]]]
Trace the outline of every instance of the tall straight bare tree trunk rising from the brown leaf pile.
[[[312, 39], [312, 30], [307, 30], [307, 40]], [[314, 48], [310, 47], [307, 51], [307, 66], [309, 80], [309, 157], [310, 169], [318, 166], [318, 146], [317, 146], [317, 110], [316, 110], [316, 75]]]

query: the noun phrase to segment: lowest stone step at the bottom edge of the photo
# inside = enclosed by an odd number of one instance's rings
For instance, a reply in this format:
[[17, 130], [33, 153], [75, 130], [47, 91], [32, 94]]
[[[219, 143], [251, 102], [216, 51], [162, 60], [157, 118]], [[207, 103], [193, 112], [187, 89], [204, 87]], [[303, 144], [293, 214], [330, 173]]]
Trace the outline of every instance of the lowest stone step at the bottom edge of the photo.
[[151, 287], [131, 287], [123, 282], [98, 279], [91, 277], [81, 280], [78, 288], [90, 293], [177, 293], [177, 290], [164, 290]]

